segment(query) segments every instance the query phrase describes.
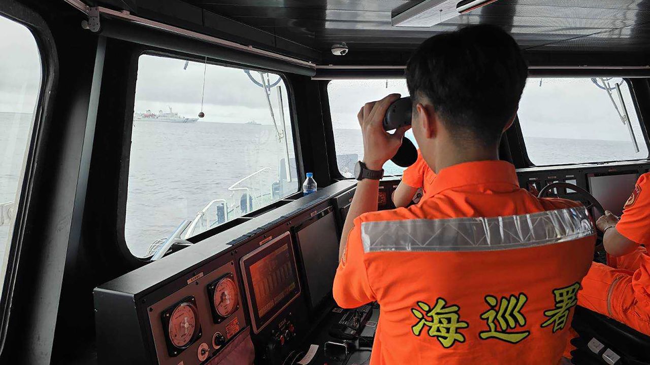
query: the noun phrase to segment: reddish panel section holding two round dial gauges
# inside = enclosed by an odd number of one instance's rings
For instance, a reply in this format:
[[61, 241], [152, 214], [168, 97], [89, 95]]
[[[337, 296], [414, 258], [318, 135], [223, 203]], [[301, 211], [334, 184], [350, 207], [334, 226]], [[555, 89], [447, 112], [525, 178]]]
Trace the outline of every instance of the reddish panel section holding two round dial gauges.
[[214, 357], [246, 327], [233, 260], [197, 273], [187, 286], [147, 307], [158, 362], [196, 364]]

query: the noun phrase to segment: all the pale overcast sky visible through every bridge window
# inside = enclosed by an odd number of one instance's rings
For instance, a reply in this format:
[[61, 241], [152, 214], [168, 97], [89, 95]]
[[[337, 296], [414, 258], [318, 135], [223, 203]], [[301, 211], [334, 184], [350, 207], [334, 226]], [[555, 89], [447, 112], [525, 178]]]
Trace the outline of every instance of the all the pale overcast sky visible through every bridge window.
[[[0, 17], [0, 111], [32, 112], [40, 83], [40, 60], [34, 38], [27, 28]], [[138, 65], [135, 111], [174, 108], [187, 118], [201, 111], [204, 65], [173, 58], [144, 55]], [[260, 80], [259, 73], [253, 76]], [[271, 82], [278, 77], [271, 75]], [[620, 81], [620, 79], [619, 79]], [[279, 120], [278, 92], [283, 94], [283, 111], [288, 123], [286, 87], [274, 88], [271, 103]], [[381, 99], [391, 92], [408, 95], [403, 79], [336, 80], [328, 87], [333, 127], [358, 129], [356, 114], [367, 101]], [[623, 84], [625, 104], [638, 125], [627, 85]], [[614, 95], [617, 105], [620, 103]], [[272, 120], [263, 88], [255, 85], [241, 69], [208, 65], [205, 68], [205, 94], [202, 121], [270, 124]], [[525, 136], [629, 140], [607, 93], [590, 79], [530, 79], [519, 107]], [[640, 136], [640, 131], [636, 131]]]

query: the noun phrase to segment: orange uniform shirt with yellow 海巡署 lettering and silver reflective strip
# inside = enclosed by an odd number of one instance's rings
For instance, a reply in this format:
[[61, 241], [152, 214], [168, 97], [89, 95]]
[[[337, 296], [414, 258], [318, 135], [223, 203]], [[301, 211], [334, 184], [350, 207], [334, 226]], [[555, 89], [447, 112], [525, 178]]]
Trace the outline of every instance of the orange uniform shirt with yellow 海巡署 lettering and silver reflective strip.
[[370, 364], [557, 364], [595, 243], [585, 208], [520, 189], [502, 161], [450, 166], [431, 189], [348, 236], [333, 296], [380, 304]]

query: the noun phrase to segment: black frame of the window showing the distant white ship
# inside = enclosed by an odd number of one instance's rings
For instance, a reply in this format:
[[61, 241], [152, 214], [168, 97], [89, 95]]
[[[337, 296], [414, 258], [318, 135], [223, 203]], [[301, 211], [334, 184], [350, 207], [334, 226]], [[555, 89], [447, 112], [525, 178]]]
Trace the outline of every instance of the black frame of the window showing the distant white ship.
[[[302, 180], [300, 179], [300, 176], [303, 174], [302, 170], [304, 170], [302, 166], [302, 154], [300, 153], [300, 138], [298, 135], [298, 123], [297, 123], [297, 118], [296, 118], [296, 104], [295, 104], [295, 97], [294, 97], [294, 90], [293, 90], [293, 85], [289, 81], [289, 77], [287, 77], [287, 74], [283, 71], [277, 71], [274, 69], [265, 69], [265, 68], [259, 68], [259, 67], [253, 67], [253, 66], [247, 66], [246, 64], [239, 64], [235, 62], [227, 62], [225, 60], [220, 60], [218, 58], [214, 57], [206, 57], [202, 55], [196, 55], [196, 54], [188, 54], [188, 53], [183, 53], [179, 51], [172, 51], [169, 49], [156, 49], [153, 47], [140, 47], [138, 51], [135, 51], [133, 53], [133, 57], [131, 59], [131, 62], [133, 63], [133, 67], [131, 68], [132, 73], [130, 75], [130, 80], [129, 80], [129, 85], [133, 89], [133, 92], [129, 92], [127, 94], [127, 106], [128, 107], [133, 107], [135, 105], [135, 91], [136, 91], [136, 83], [137, 83], [137, 78], [138, 78], [138, 62], [140, 60], [140, 57], [142, 56], [156, 56], [156, 57], [166, 57], [166, 58], [175, 58], [178, 60], [188, 60], [191, 62], [198, 62], [198, 63], [205, 63], [214, 66], [223, 66], [227, 68], [238, 68], [238, 69], [250, 69], [251, 71], [262, 71], [262, 72], [268, 72], [268, 73], [273, 73], [274, 75], [278, 75], [281, 80], [285, 84], [285, 88], [287, 91], [287, 105], [289, 105], [289, 120], [290, 120], [290, 125], [291, 125], [291, 138], [293, 141], [293, 157], [296, 159], [296, 176], [298, 179], [298, 186], [296, 188], [296, 192], [289, 194], [282, 199], [279, 199], [279, 201], [283, 199], [288, 199], [289, 197], [292, 197], [296, 195], [298, 192], [300, 192], [302, 188]], [[133, 108], [131, 108], [133, 109]], [[127, 205], [127, 197], [129, 194], [129, 170], [130, 170], [130, 157], [131, 157], [131, 140], [133, 136], [133, 112], [129, 114], [129, 111], [126, 110], [125, 112], [125, 120], [124, 120], [124, 134], [123, 134], [123, 151], [122, 151], [122, 157], [123, 157], [123, 162], [122, 166], [120, 166], [120, 177], [119, 177], [119, 184], [120, 184], [120, 193], [118, 194], [118, 217], [117, 217], [117, 237], [118, 237], [118, 245], [120, 246], [120, 252], [122, 253], [123, 258], [125, 260], [128, 260], [129, 262], [132, 262], [133, 264], [137, 266], [142, 266], [142, 264], [148, 264], [151, 262], [148, 258], [143, 258], [143, 257], [137, 257], [133, 255], [131, 252], [131, 249], [129, 248], [129, 244], [126, 241], [126, 236], [125, 236], [125, 227], [126, 227], [126, 205]], [[256, 210], [253, 210], [252, 212], [248, 212], [248, 214], [256, 214], [259, 212], [263, 211], [268, 211], [268, 207], [271, 207], [272, 205], [277, 204], [279, 201], [276, 201], [274, 203], [271, 203], [270, 205], [266, 205], [265, 207], [258, 208]], [[271, 209], [272, 210], [272, 209]], [[234, 221], [234, 220], [233, 220]], [[240, 222], [242, 223], [242, 222]], [[212, 229], [209, 229], [208, 231], [204, 231], [202, 233], [197, 233], [194, 236], [191, 236], [188, 238], [188, 241], [192, 243], [198, 243], [201, 240], [204, 240], [205, 238], [208, 238], [209, 236], [213, 236], [214, 234], [221, 233], [223, 231], [227, 231], [228, 229], [237, 227], [240, 223], [237, 224], [228, 224], [228, 222], [223, 223], [222, 225], [218, 225]], [[192, 238], [198, 238], [196, 242], [192, 240]], [[169, 255], [169, 253], [167, 254]]]

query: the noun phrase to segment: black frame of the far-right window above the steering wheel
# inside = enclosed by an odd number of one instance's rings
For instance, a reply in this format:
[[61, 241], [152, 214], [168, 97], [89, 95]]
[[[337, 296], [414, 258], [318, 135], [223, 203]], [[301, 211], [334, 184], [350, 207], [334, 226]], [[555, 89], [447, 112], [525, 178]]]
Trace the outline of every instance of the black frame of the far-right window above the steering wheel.
[[[528, 76], [528, 78], [540, 78], [540, 77], [543, 78], [543, 77], [547, 77], [547, 76], [544, 76], [544, 75], [529, 75]], [[588, 79], [590, 77], [592, 77], [592, 76], [589, 76], [589, 75], [555, 75], [554, 77], [550, 76], [550, 77], [547, 77], [547, 78]], [[613, 76], [613, 77], [617, 77], [617, 76]], [[521, 123], [519, 121], [519, 112], [517, 111], [517, 116], [515, 118], [515, 121], [514, 121], [512, 127], [510, 127], [509, 131], [515, 132], [517, 140], [519, 140], [519, 146], [521, 147], [521, 155], [524, 158], [524, 161], [525, 161], [525, 164], [526, 164], [525, 167], [526, 168], [547, 168], [547, 167], [551, 167], [551, 166], [569, 166], [569, 165], [575, 165], [575, 164], [608, 164], [608, 163], [612, 163], [612, 162], [630, 162], [630, 163], [634, 163], [634, 162], [637, 162], [637, 161], [649, 159], [650, 158], [650, 144], [649, 144], [649, 141], [648, 141], [648, 134], [647, 134], [647, 129], [645, 127], [645, 121], [643, 120], [643, 114], [642, 114], [642, 111], [641, 111], [641, 109], [639, 107], [638, 99], [637, 99], [637, 96], [636, 96], [636, 90], [634, 89], [634, 84], [632, 82], [632, 79], [630, 79], [630, 77], [621, 77], [621, 79], [623, 79], [623, 81], [625, 81], [627, 83], [627, 87], [630, 90], [630, 99], [632, 99], [632, 104], [634, 105], [634, 112], [636, 112], [636, 116], [637, 116], [638, 121], [639, 121], [639, 127], [640, 127], [641, 132], [642, 132], [642, 136], [636, 136], [636, 135], [635, 136], [637, 138], [638, 143], [641, 143], [641, 142], [645, 143], [645, 146], [647, 147], [647, 150], [648, 150], [648, 155], [647, 156], [640, 157], [640, 158], [633, 158], [633, 159], [629, 159], [629, 160], [607, 160], [607, 161], [598, 161], [598, 162], [567, 162], [565, 164], [540, 164], [540, 165], [536, 165], [530, 160], [530, 157], [528, 156], [528, 147], [526, 146], [526, 140], [525, 140], [525, 138], [523, 136], [523, 132], [521, 131]]]

